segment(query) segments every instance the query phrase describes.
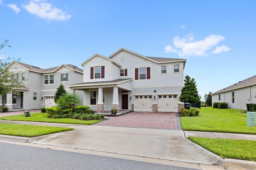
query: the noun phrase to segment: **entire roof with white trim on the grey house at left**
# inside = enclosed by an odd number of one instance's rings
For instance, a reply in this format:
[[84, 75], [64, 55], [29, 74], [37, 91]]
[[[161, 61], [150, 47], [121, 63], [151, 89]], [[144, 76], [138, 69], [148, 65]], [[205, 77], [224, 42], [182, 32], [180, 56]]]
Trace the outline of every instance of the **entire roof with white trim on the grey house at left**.
[[73, 70], [73, 71], [77, 71], [79, 73], [83, 73], [83, 70], [72, 65], [72, 64], [68, 64], [68, 65], [65, 65], [65, 64], [62, 64], [58, 67], [52, 67], [52, 68], [48, 68], [48, 69], [43, 69], [43, 68], [40, 68], [40, 67], [36, 67], [36, 66], [32, 66], [32, 65], [28, 65], [28, 64], [25, 64], [25, 63], [21, 63], [21, 62], [18, 62], [18, 61], [13, 61], [10, 65], [12, 65], [13, 63], [16, 63], [18, 65], [20, 65], [21, 67], [29, 70], [29, 71], [33, 71], [33, 72], [36, 72], [36, 73], [53, 73], [53, 72], [56, 72], [58, 69], [60, 69], [61, 67], [68, 67], [69, 69]]

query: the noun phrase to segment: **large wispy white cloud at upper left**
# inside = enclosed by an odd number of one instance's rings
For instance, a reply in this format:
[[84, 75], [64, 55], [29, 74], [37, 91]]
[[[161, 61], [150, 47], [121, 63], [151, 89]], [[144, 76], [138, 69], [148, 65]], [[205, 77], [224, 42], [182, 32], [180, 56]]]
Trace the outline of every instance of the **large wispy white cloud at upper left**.
[[30, 14], [47, 20], [65, 21], [71, 18], [70, 14], [52, 6], [46, 0], [30, 0], [28, 4], [22, 5]]

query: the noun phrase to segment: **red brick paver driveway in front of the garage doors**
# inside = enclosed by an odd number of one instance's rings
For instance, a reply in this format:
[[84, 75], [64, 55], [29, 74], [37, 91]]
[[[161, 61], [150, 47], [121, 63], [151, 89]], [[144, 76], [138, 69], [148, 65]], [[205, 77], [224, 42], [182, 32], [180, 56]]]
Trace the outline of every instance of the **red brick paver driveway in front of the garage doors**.
[[[94, 124], [98, 126], [155, 128], [182, 130], [176, 113], [131, 112], [118, 117], [105, 117], [108, 120]], [[177, 123], [178, 119], [178, 123]]]

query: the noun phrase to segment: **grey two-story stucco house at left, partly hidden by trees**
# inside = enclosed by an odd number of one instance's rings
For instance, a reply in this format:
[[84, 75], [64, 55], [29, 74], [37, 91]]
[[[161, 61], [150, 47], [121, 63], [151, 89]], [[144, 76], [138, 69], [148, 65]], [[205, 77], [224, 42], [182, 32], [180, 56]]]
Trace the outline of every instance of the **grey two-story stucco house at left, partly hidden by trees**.
[[[25, 87], [18, 89], [20, 95], [7, 94], [0, 97], [0, 107], [8, 107], [9, 111], [41, 109], [52, 107], [56, 88], [64, 85], [64, 89], [71, 93], [68, 84], [78, 83], [83, 78], [83, 70], [68, 64], [43, 69], [25, 63], [13, 61], [10, 69], [14, 72], [16, 81], [25, 81]], [[82, 93], [78, 92], [82, 100]]]

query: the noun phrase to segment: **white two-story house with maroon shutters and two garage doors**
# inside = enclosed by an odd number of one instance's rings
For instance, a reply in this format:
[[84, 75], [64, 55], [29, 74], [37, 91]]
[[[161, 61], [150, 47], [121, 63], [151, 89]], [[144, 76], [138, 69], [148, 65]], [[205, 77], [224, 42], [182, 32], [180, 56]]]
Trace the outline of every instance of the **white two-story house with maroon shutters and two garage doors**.
[[109, 57], [96, 53], [81, 65], [83, 105], [102, 113], [113, 109], [178, 112], [186, 59], [145, 57], [121, 48]]

